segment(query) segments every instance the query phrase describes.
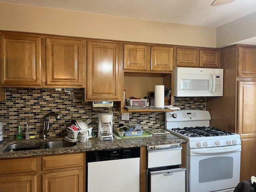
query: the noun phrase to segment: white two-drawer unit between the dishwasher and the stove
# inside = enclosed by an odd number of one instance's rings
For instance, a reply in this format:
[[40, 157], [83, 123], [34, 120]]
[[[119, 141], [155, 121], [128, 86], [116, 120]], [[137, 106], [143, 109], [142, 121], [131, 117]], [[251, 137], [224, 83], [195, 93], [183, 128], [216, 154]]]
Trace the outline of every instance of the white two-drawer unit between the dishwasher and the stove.
[[148, 146], [148, 192], [185, 192], [181, 143]]

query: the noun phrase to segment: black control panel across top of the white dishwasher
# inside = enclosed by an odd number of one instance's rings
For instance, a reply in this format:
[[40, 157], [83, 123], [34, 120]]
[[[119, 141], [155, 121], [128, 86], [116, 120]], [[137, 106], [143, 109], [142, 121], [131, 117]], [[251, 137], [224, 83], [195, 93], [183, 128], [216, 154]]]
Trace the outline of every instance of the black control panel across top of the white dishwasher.
[[87, 162], [98, 162], [137, 157], [140, 157], [139, 147], [86, 152]]

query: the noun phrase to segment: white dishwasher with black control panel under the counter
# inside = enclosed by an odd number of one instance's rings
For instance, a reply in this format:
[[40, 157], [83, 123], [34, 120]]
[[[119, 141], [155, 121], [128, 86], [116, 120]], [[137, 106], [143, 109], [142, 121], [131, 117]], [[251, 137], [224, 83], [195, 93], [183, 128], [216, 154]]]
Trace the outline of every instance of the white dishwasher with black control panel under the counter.
[[140, 148], [86, 152], [87, 192], [140, 192]]

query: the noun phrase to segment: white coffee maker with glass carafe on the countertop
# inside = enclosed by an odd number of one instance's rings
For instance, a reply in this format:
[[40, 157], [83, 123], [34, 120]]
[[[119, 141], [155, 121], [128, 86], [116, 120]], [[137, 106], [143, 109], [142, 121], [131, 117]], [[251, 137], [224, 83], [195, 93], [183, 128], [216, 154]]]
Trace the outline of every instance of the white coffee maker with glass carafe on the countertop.
[[98, 138], [101, 141], [113, 140], [113, 114], [99, 113], [98, 114]]

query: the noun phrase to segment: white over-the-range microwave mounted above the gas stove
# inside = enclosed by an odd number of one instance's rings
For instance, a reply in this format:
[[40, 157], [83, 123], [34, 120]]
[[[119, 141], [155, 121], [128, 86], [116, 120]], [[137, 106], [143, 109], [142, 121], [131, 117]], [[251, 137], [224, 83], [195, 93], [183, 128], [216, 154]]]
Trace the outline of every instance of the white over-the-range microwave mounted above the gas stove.
[[223, 69], [174, 68], [174, 96], [223, 96]]

